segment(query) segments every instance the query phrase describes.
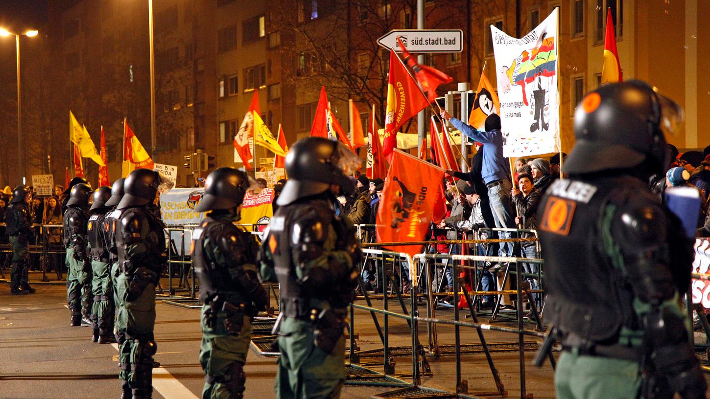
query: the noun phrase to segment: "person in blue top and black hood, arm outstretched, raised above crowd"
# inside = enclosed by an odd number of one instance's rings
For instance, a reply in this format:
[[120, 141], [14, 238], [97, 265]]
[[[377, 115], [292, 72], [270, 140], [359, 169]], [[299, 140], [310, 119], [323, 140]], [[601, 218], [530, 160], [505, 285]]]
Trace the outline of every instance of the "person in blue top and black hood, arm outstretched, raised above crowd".
[[[501, 117], [496, 113], [486, 118], [485, 131], [477, 130], [467, 123], [454, 118], [442, 111], [442, 118], [449, 120], [455, 128], [476, 142], [483, 144], [483, 166], [481, 177], [488, 189], [489, 205], [493, 213], [493, 222], [499, 228], [513, 228], [513, 211], [510, 209], [510, 164], [503, 157], [503, 133], [501, 132]], [[499, 232], [500, 238], [510, 238], [510, 232]], [[504, 242], [499, 250], [501, 257], [513, 256], [513, 243]]]

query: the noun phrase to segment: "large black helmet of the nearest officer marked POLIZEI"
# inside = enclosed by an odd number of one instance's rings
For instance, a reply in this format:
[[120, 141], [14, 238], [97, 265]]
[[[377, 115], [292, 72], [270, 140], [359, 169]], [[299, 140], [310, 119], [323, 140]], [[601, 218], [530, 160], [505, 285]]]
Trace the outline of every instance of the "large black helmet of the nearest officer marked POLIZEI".
[[674, 134], [682, 119], [682, 108], [645, 82], [604, 84], [574, 113], [577, 142], [562, 169], [583, 174], [644, 163], [648, 174], [662, 173], [669, 161], [665, 134]]

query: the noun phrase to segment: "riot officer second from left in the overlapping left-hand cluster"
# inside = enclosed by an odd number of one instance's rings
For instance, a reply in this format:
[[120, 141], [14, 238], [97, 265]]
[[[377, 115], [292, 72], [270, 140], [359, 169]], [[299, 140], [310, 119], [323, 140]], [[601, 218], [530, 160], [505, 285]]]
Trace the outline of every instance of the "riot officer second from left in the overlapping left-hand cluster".
[[91, 322], [93, 342], [108, 344], [112, 342], [114, 333], [114, 298], [113, 284], [109, 276], [109, 249], [106, 242], [104, 220], [111, 209], [106, 206], [106, 201], [111, 198], [111, 188], [101, 186], [94, 191], [94, 203], [89, 208], [89, 224], [87, 236], [89, 238], [89, 257], [92, 268], [92, 293], [94, 305], [92, 306]]

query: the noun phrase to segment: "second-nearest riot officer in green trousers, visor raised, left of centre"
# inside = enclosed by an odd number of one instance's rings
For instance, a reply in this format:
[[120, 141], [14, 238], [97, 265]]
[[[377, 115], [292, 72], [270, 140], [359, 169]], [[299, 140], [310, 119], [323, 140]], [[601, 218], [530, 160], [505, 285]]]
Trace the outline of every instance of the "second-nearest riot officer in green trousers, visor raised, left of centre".
[[280, 284], [277, 398], [338, 398], [345, 382], [343, 329], [361, 251], [333, 204], [355, 192], [348, 176], [359, 166], [342, 143], [322, 137], [296, 142], [286, 157], [290, 179], [260, 252], [263, 279]]

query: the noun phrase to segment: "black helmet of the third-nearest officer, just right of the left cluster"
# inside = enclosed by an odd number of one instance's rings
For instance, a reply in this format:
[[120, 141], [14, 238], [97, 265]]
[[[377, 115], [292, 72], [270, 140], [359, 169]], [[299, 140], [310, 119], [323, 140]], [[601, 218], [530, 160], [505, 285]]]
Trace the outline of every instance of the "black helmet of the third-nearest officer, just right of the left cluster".
[[249, 189], [246, 173], [239, 169], [222, 167], [214, 169], [204, 183], [204, 196], [195, 208], [196, 212], [231, 209], [240, 206]]

